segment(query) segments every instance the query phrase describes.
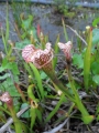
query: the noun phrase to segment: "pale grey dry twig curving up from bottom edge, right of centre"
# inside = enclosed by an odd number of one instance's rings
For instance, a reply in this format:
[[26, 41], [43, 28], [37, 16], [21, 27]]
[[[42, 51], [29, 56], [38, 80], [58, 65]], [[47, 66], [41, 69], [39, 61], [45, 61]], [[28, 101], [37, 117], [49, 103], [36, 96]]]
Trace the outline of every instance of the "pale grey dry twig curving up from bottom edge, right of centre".
[[[69, 115], [69, 117], [72, 115], [74, 115], [75, 113], [76, 113], [76, 110]], [[58, 126], [56, 126], [52, 131], [46, 131], [46, 132], [43, 132], [43, 133], [56, 133], [56, 132], [58, 132], [68, 122], [69, 117], [67, 117], [62, 124], [59, 124]]]

